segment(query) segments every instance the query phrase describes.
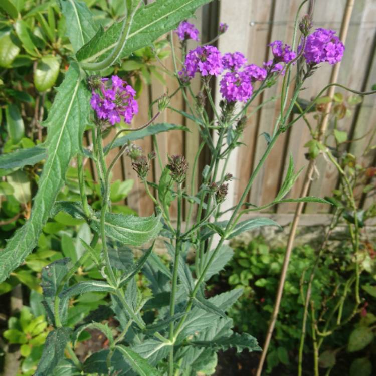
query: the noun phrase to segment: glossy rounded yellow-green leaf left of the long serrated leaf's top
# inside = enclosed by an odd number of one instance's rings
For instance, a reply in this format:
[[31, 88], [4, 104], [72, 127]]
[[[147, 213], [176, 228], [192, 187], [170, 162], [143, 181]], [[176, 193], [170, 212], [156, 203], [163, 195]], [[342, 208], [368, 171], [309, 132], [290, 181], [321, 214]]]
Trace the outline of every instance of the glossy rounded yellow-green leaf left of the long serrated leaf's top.
[[51, 89], [58, 78], [60, 70], [60, 58], [54, 55], [46, 55], [38, 61], [34, 71], [34, 85], [38, 91]]

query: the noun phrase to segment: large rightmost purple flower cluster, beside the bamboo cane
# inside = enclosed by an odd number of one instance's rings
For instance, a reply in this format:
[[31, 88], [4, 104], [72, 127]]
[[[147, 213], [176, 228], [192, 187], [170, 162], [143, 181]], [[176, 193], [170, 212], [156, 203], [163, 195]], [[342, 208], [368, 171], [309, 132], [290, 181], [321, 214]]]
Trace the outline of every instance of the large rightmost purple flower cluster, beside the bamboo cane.
[[308, 64], [335, 64], [341, 61], [344, 49], [334, 30], [319, 28], [308, 36], [303, 55]]

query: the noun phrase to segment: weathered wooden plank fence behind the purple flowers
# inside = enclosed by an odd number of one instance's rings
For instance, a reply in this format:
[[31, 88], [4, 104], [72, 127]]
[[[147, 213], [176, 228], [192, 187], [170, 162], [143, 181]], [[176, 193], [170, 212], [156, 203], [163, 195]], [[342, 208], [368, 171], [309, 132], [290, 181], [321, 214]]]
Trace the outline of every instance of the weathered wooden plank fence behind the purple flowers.
[[[192, 20], [200, 30], [202, 42], [207, 42], [216, 35], [219, 22], [226, 22], [229, 25], [228, 31], [218, 41], [218, 48], [221, 52], [241, 51], [250, 63], [262, 65], [263, 61], [271, 58], [270, 48], [267, 46], [276, 39], [290, 43], [293, 33], [293, 24], [300, 0], [221, 0], [212, 2], [200, 9]], [[339, 32], [341, 20], [345, 9], [345, 0], [316, 0], [314, 8], [314, 27], [334, 29]], [[306, 11], [306, 8], [304, 9]], [[376, 0], [356, 0], [353, 9], [347, 41], [346, 50], [341, 63], [338, 82], [356, 90], [370, 90], [376, 83]], [[177, 44], [175, 40], [175, 45]], [[194, 47], [195, 43], [191, 43]], [[165, 65], [173, 69], [172, 61], [167, 59]], [[317, 72], [311, 77], [301, 96], [311, 99], [329, 82], [332, 66], [322, 64]], [[165, 76], [167, 85], [163, 87], [154, 80], [152, 85], [144, 89], [139, 98], [140, 111], [134, 120], [134, 127], [147, 121], [149, 103], [155, 98], [168, 91], [171, 93], [177, 88], [174, 79]], [[199, 87], [199, 81], [194, 82], [194, 91]], [[218, 83], [217, 83], [218, 85]], [[278, 96], [281, 89], [281, 80], [277, 85], [265, 91], [259, 102], [253, 104], [253, 108], [273, 96]], [[218, 91], [218, 88], [216, 89]], [[341, 91], [341, 90], [338, 90]], [[347, 94], [346, 94], [347, 95]], [[217, 101], [218, 101], [217, 95]], [[183, 101], [180, 94], [172, 100], [176, 108], [183, 108]], [[244, 131], [242, 141], [244, 146], [237, 149], [229, 163], [229, 172], [233, 173], [235, 179], [230, 183], [230, 194], [227, 206], [231, 207], [236, 203], [247, 184], [253, 168], [265, 150], [263, 132], [270, 133], [273, 129], [278, 115], [278, 99], [269, 102], [260, 111], [252, 116]], [[251, 108], [252, 110], [252, 108]], [[186, 121], [176, 112], [165, 111], [157, 122], [169, 122], [187, 126], [191, 132], [172, 131], [157, 136], [159, 150], [163, 162], [167, 161], [167, 154], [185, 154], [189, 163], [193, 165], [196, 150], [199, 146], [199, 133], [197, 126]], [[340, 129], [348, 132], [350, 139], [358, 139], [367, 134], [360, 141], [348, 143], [348, 150], [359, 153], [369, 142], [372, 129], [376, 128], [376, 95], [366, 96], [361, 105], [358, 105], [348, 118], [341, 120]], [[261, 205], [272, 201], [279, 190], [284, 177], [289, 153], [291, 152], [297, 168], [306, 166], [304, 153], [307, 151], [304, 144], [310, 139], [309, 131], [303, 121], [298, 121], [290, 131], [284, 133], [277, 141], [272, 153], [260, 171], [249, 195], [249, 202]], [[138, 141], [145, 152], [152, 151], [152, 140], [146, 138]], [[116, 150], [110, 154], [112, 159]], [[201, 166], [210, 158], [207, 152], [201, 156]], [[375, 165], [375, 153], [370, 153], [364, 158], [363, 163]], [[160, 168], [154, 164], [152, 174], [149, 175], [154, 181], [160, 176]], [[190, 172], [191, 173], [191, 172]], [[291, 190], [290, 197], [299, 196], [301, 189], [301, 177], [296, 181]], [[135, 172], [131, 168], [129, 158], [124, 157], [121, 163], [114, 170], [114, 179], [134, 179], [135, 184], [127, 199], [127, 204], [135, 209], [140, 215], [150, 215], [153, 212], [153, 204], [146, 196], [143, 187], [139, 183]], [[187, 178], [190, 181], [190, 175]], [[317, 160], [317, 173], [311, 183], [309, 195], [324, 197], [331, 195], [338, 183], [336, 170], [330, 163], [319, 156]], [[199, 176], [196, 176], [195, 186], [199, 186]], [[187, 187], [190, 190], [190, 187]], [[369, 205], [372, 198], [362, 199], [362, 205]], [[295, 204], [281, 204], [269, 212], [278, 216], [289, 216], [295, 209]], [[312, 219], [320, 218], [317, 215], [328, 213], [329, 206], [322, 204], [308, 204], [304, 209], [303, 223], [311, 223]], [[171, 210], [172, 217], [175, 208]], [[305, 220], [304, 220], [305, 216]], [[323, 217], [324, 218], [324, 217]], [[320, 221], [320, 220], [318, 220]]]

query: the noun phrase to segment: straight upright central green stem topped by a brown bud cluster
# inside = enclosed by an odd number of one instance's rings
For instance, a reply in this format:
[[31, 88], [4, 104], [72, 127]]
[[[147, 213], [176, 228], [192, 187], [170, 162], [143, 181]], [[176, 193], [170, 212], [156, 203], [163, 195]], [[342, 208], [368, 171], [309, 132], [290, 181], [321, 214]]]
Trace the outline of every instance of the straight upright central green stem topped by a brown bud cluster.
[[[179, 257], [181, 251], [181, 206], [182, 206], [182, 194], [181, 194], [181, 183], [177, 183], [177, 224], [176, 224], [176, 247], [175, 247], [175, 258], [173, 263], [172, 271], [172, 286], [171, 286], [171, 298], [170, 298], [170, 317], [175, 314], [175, 297], [177, 289], [177, 270], [179, 267]], [[170, 323], [170, 334], [169, 339], [172, 342], [174, 337], [174, 324]], [[169, 361], [168, 361], [168, 374], [173, 376], [173, 345], [171, 346]]]

